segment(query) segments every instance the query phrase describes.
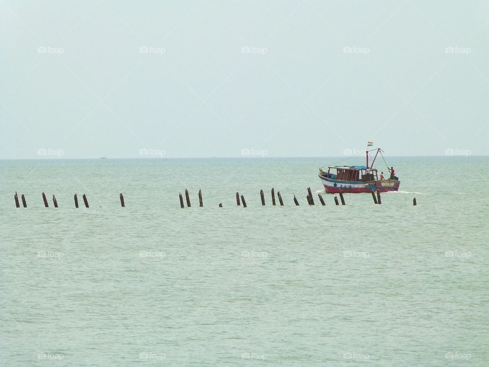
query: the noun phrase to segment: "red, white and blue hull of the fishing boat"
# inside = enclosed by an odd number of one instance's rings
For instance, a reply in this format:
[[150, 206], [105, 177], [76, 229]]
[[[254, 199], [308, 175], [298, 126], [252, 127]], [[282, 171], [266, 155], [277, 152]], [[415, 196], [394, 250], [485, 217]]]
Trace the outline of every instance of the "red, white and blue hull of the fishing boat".
[[399, 190], [399, 180], [395, 179], [384, 179], [384, 180], [373, 180], [373, 181], [342, 181], [333, 178], [328, 178], [319, 175], [322, 181], [324, 190], [328, 193], [337, 194], [340, 191], [342, 193], [369, 193], [373, 191], [387, 192], [387, 191], [398, 191]]

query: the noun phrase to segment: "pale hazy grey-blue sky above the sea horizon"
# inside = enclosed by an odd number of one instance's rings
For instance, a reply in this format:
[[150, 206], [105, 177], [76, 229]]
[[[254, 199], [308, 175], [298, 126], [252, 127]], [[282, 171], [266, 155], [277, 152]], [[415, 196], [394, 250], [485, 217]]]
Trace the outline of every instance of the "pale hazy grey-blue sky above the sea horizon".
[[0, 0], [0, 30], [0, 159], [487, 154], [486, 0]]

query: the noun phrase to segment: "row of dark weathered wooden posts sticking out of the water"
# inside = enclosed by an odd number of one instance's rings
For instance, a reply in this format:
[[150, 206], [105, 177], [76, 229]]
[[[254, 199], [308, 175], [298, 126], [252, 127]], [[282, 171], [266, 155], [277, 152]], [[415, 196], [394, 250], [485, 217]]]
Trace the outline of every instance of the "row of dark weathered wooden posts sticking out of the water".
[[[326, 205], [326, 203], [324, 202], [324, 199], [322, 197], [321, 194], [317, 194], [318, 197], [319, 197], [319, 201], [321, 202], [322, 205]], [[340, 196], [340, 200], [341, 200], [341, 205], [346, 205], [345, 204], [345, 198], [343, 197], [343, 193], [340, 191], [339, 192], [339, 196]], [[281, 206], [284, 205], [284, 201], [282, 200], [282, 195], [280, 195], [280, 191], [277, 192], [277, 197], [279, 199], [279, 203]], [[82, 195], [82, 198], [83, 198], [83, 202], [85, 204], [85, 207], [89, 207], [88, 205], [88, 199], [87, 199], [87, 195], [83, 194]], [[119, 198], [121, 200], [121, 206], [122, 207], [125, 207], [125, 204], [124, 204], [124, 195], [122, 195], [122, 193], [119, 194]], [[181, 208], [184, 208], [185, 205], [183, 203], [183, 196], [182, 196], [182, 193], [179, 194], [179, 198], [180, 198], [180, 207]], [[261, 198], [261, 205], [265, 206], [265, 194], [263, 193], [263, 190], [260, 190], [260, 198]], [[375, 192], [372, 191], [372, 198], [373, 198], [373, 202], [375, 204], [382, 204], [382, 200], [381, 200], [381, 193], [377, 190], [377, 195], [375, 196]], [[27, 207], [27, 202], [25, 201], [25, 196], [24, 194], [22, 194], [20, 196], [20, 199], [22, 201], [22, 206], [23, 207]], [[78, 196], [77, 194], [74, 194], [73, 196], [73, 199], [75, 201], [75, 208], [78, 207]], [[14, 200], [15, 200], [15, 206], [16, 207], [20, 207], [20, 203], [19, 203], [19, 197], [17, 195], [17, 192], [15, 192], [15, 195], [14, 195]], [[44, 192], [42, 193], [42, 200], [44, 202], [44, 206], [45, 207], [49, 207], [49, 204], [47, 202], [47, 198], [46, 198], [46, 194], [44, 194]], [[315, 205], [314, 204], [314, 198], [313, 198], [313, 195], [312, 195], [312, 192], [311, 192], [311, 188], [308, 187], [307, 188], [307, 196], [306, 196], [306, 200], [308, 202], [309, 205]], [[339, 205], [339, 202], [338, 202], [338, 197], [335, 195], [334, 197], [334, 200], [335, 200], [335, 204], [336, 205]], [[190, 195], [188, 194], [188, 190], [185, 189], [185, 201], [187, 203], [187, 207], [191, 207], [191, 202], [190, 202]], [[58, 207], [58, 201], [56, 200], [56, 196], [53, 195], [52, 196], [52, 202], [53, 202], [53, 205], [55, 207]], [[240, 206], [241, 203], [243, 204], [243, 207], [247, 207], [246, 205], [246, 201], [244, 200], [244, 196], [243, 195], [239, 195], [239, 192], [236, 192], [236, 205], [237, 206]], [[297, 200], [297, 198], [295, 197], [294, 195], [294, 203], [296, 206], [299, 205], [299, 202]], [[276, 205], [276, 201], [275, 201], [275, 188], [272, 188], [271, 189], [271, 204], [272, 205]], [[417, 205], [416, 203], [416, 198], [413, 199], [413, 205]], [[199, 190], [199, 206], [204, 206], [204, 202], [202, 200], [202, 191]], [[220, 203], [219, 204], [219, 207], [223, 207], [223, 204]]]

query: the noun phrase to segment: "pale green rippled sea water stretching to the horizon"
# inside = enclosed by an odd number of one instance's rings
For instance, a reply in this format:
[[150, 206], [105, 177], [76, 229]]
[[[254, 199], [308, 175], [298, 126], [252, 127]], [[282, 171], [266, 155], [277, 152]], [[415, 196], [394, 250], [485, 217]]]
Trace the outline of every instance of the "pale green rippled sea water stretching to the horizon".
[[488, 365], [489, 158], [390, 158], [345, 206], [338, 160], [0, 161], [0, 365]]

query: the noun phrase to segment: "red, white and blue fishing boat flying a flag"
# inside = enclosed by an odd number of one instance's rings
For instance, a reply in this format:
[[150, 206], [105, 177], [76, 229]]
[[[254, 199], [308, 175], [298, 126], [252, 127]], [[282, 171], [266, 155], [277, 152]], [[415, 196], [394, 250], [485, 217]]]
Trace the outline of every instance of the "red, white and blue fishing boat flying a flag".
[[[370, 145], [370, 142], [369, 142]], [[375, 157], [368, 165], [368, 153], [371, 151], [377, 151]], [[319, 168], [319, 178], [321, 179], [324, 189], [328, 193], [366, 193], [373, 191], [397, 191], [399, 190], [399, 178], [394, 175], [393, 170], [386, 163], [388, 173], [383, 177], [378, 176], [376, 168], [373, 168], [375, 159], [378, 153], [381, 153], [382, 149], [367, 150], [367, 164], [365, 166], [328, 166], [328, 170], [323, 170], [324, 167]], [[385, 162], [385, 159], [384, 159]]]

